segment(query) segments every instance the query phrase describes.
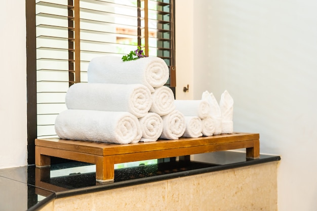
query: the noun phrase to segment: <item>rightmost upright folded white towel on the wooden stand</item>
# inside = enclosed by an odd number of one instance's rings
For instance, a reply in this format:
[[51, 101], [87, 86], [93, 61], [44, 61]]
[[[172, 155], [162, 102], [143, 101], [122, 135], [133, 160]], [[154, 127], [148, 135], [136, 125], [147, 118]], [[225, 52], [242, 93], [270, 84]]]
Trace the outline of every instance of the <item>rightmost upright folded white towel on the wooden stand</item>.
[[233, 99], [228, 91], [222, 93], [219, 107], [222, 115], [222, 132], [223, 134], [233, 133]]

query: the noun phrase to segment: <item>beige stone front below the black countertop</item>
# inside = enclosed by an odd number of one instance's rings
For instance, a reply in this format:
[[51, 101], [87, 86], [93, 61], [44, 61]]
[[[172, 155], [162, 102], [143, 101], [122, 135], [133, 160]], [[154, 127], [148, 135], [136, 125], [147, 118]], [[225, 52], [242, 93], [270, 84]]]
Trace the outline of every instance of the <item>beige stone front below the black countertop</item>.
[[278, 162], [55, 199], [42, 211], [277, 210]]

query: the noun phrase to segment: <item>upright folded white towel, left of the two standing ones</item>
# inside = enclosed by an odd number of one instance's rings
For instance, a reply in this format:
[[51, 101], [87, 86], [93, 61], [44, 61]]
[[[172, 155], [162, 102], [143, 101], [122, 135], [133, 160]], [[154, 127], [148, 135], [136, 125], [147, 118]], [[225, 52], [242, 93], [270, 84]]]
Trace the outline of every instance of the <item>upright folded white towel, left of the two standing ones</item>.
[[202, 95], [202, 100], [206, 100], [210, 105], [210, 115], [214, 120], [215, 132], [214, 135], [219, 135], [222, 132], [222, 118], [219, 104], [212, 93], [205, 91]]

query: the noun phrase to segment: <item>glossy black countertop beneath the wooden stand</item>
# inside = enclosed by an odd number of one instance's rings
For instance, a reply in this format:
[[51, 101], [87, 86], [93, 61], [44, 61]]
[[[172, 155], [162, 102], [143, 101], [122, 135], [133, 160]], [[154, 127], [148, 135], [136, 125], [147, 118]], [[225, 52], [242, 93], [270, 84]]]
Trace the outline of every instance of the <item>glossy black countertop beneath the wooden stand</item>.
[[157, 164], [116, 169], [114, 181], [98, 183], [95, 165], [82, 162], [52, 164], [51, 168], [34, 165], [0, 169], [0, 210], [38, 210], [54, 198], [90, 193], [143, 183], [185, 177], [229, 168], [278, 161], [280, 156], [260, 155], [246, 159], [235, 151], [209, 153], [208, 162], [168, 159]]

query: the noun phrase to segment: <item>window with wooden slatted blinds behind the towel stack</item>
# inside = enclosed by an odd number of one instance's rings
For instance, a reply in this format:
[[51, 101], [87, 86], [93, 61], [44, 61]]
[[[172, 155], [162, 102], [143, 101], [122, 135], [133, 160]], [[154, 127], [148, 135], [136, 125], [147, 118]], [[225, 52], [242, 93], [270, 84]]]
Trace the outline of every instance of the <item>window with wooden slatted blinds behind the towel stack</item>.
[[56, 137], [65, 94], [73, 83], [87, 82], [94, 57], [140, 46], [166, 61], [166, 86], [175, 87], [174, 8], [174, 0], [26, 1], [29, 146], [37, 137]]

